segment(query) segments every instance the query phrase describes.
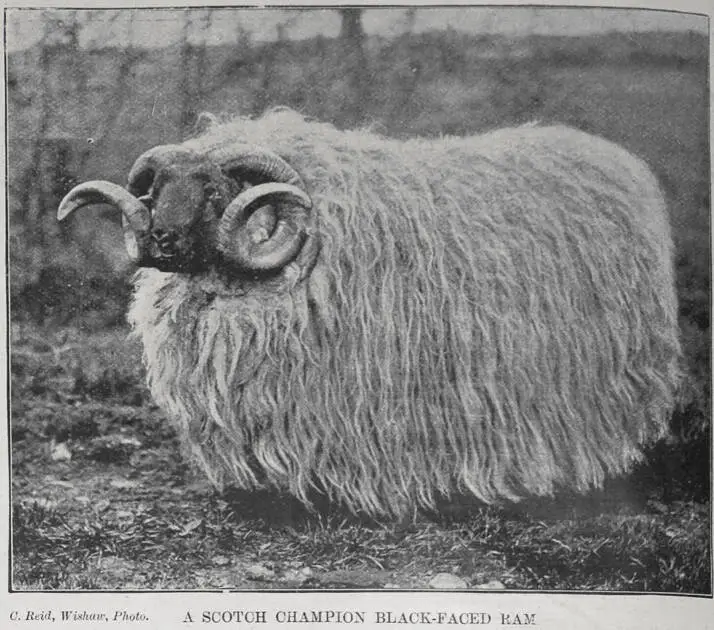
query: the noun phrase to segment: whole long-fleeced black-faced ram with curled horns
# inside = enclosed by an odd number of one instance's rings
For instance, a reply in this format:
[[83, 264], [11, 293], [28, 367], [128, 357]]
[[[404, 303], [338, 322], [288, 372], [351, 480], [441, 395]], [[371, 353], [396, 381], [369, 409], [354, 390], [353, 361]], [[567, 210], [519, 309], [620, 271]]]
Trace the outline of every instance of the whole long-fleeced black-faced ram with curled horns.
[[648, 167], [563, 126], [388, 139], [276, 109], [154, 148], [122, 211], [153, 397], [218, 488], [403, 518], [587, 492], [680, 377]]

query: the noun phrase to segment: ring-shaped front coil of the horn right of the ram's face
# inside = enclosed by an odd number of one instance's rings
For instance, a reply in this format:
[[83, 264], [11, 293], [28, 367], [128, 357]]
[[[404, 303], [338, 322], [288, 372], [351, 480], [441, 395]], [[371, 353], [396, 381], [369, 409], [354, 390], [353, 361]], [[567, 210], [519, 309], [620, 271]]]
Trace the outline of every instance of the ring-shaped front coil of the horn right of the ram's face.
[[[254, 242], [245, 229], [257, 205], [274, 203], [277, 222], [270, 238]], [[235, 264], [250, 271], [284, 267], [300, 252], [307, 236], [312, 201], [300, 188], [271, 182], [253, 186], [225, 209], [218, 226], [218, 248]]]

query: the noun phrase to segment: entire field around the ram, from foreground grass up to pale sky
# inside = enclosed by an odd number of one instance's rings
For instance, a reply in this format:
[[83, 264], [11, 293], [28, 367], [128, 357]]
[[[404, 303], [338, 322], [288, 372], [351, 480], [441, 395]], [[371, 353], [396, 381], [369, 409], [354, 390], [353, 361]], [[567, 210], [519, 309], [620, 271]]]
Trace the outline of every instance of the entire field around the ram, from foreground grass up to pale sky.
[[[263, 42], [237, 27], [207, 45], [215, 16], [176, 12], [178, 40], [146, 48], [126, 43], [132, 19], [119, 37], [90, 13], [43, 12], [40, 39], [8, 55], [15, 588], [423, 588], [447, 573], [472, 588], [711, 591], [706, 37], [417, 33], [409, 12], [387, 37], [364, 32], [369, 13], [343, 11], [335, 37], [278, 28]], [[55, 212], [79, 181], [122, 183], [201, 111], [273, 105], [398, 137], [563, 122], [643, 157], [676, 246], [687, 376], [671, 438], [604, 492], [452, 502], [397, 525], [214, 493], [181, 458], [127, 341], [118, 218], [87, 211], [60, 227]]]

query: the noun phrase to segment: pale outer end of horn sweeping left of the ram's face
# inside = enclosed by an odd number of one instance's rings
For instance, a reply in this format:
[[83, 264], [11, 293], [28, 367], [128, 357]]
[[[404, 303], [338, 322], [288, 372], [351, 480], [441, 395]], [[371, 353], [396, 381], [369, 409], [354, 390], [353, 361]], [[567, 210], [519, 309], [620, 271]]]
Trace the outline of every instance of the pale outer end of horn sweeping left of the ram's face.
[[95, 203], [107, 203], [121, 210], [127, 253], [132, 260], [143, 259], [147, 253], [151, 214], [141, 201], [121, 186], [105, 181], [75, 186], [60, 202], [57, 219], [62, 221], [75, 210]]

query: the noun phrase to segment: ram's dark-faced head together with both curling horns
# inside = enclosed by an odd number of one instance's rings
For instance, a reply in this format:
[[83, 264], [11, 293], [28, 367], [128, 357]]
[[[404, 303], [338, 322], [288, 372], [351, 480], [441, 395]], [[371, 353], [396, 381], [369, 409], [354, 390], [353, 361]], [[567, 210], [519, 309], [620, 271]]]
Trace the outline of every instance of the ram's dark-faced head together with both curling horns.
[[155, 147], [136, 160], [126, 189], [107, 181], [80, 184], [62, 200], [57, 217], [96, 203], [121, 210], [127, 252], [142, 267], [192, 273], [225, 265], [277, 273], [296, 258], [307, 268], [317, 252], [314, 246], [303, 252], [312, 202], [300, 176], [255, 147], [205, 153]]

